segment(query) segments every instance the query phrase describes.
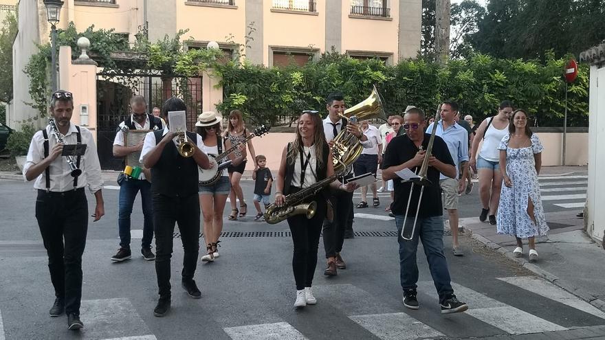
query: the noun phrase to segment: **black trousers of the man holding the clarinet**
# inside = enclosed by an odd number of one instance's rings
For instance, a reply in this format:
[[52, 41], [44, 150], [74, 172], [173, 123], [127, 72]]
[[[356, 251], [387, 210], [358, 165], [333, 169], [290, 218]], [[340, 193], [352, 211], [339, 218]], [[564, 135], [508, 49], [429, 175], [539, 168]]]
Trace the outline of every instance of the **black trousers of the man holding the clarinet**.
[[88, 231], [84, 188], [68, 192], [38, 190], [36, 219], [48, 254], [54, 295], [65, 299], [65, 313], [80, 315], [82, 254]]

